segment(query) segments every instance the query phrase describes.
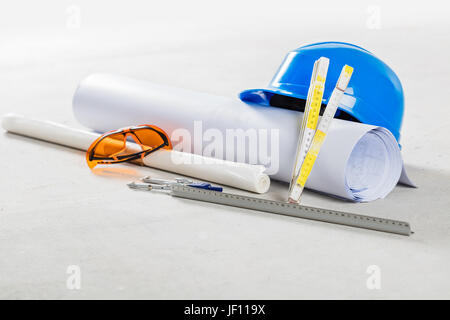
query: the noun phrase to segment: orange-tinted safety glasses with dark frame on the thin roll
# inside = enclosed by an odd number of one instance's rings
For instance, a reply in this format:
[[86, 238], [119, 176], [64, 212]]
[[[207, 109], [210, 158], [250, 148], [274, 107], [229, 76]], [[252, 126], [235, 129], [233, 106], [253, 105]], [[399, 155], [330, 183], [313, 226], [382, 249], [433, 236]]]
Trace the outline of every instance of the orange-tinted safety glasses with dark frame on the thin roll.
[[[127, 138], [131, 137], [139, 146], [127, 145]], [[143, 124], [109, 131], [98, 137], [86, 152], [89, 168], [97, 164], [112, 164], [133, 161], [159, 149], [172, 149], [172, 143], [164, 130]]]

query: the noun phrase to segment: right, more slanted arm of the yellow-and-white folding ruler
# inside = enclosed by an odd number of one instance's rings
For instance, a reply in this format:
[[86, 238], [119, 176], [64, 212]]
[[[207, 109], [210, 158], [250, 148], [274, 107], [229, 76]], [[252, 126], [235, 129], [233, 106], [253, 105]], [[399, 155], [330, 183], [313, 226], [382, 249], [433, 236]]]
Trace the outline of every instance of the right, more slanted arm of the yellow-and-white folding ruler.
[[314, 134], [311, 146], [309, 147], [305, 159], [300, 167], [300, 171], [295, 178], [295, 182], [293, 184], [291, 192], [289, 193], [288, 201], [291, 203], [298, 203], [300, 201], [300, 196], [305, 187], [306, 180], [308, 179], [309, 174], [311, 173], [311, 170], [314, 166], [314, 162], [316, 161], [320, 148], [322, 147], [322, 144], [328, 133], [331, 120], [333, 120], [339, 102], [341, 101], [341, 98], [344, 95], [344, 91], [347, 89], [352, 73], [353, 73], [352, 67], [345, 65], [342, 68], [338, 82], [336, 83], [336, 87], [334, 88], [331, 94], [330, 100], [328, 101], [327, 107], [325, 108], [325, 112], [322, 118], [320, 119], [317, 131]]

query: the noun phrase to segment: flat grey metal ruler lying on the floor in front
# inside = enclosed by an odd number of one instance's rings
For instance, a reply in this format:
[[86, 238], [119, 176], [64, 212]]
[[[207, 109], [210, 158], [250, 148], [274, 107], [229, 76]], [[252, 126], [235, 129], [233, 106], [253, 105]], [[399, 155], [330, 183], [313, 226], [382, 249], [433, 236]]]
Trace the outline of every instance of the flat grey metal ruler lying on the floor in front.
[[299, 204], [265, 200], [225, 192], [208, 191], [180, 184], [171, 185], [171, 195], [179, 198], [223, 204], [232, 207], [282, 214], [303, 219], [342, 224], [356, 228], [396, 233], [404, 236], [409, 236], [412, 233], [409, 223], [404, 221], [307, 207]]

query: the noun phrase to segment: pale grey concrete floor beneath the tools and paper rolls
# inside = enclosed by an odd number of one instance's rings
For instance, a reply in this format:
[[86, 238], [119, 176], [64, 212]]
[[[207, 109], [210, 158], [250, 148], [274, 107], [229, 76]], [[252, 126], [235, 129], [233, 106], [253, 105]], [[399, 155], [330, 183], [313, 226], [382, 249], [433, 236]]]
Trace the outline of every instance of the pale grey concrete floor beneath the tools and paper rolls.
[[[407, 220], [415, 234], [403, 237], [132, 192], [135, 177], [173, 175], [94, 175], [82, 152], [2, 132], [0, 298], [450, 298], [449, 8], [375, 2], [1, 4], [0, 113], [78, 127], [72, 94], [93, 72], [236, 95], [266, 85], [302, 44], [361, 45], [402, 80], [403, 155], [419, 188], [366, 204], [304, 197]], [[66, 285], [72, 265], [79, 290]], [[379, 289], [367, 286], [372, 265]]]

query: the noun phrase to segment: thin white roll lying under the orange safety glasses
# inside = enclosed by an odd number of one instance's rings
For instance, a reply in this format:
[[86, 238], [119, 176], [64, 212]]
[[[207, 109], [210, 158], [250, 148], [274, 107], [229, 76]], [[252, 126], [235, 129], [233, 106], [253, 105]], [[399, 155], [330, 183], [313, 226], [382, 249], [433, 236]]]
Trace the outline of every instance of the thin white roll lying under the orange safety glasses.
[[[2, 126], [9, 132], [83, 151], [99, 137], [97, 133], [15, 114], [5, 115]], [[129, 147], [136, 148], [131, 143]], [[265, 193], [270, 187], [270, 178], [263, 173], [264, 166], [259, 165], [223, 161], [175, 150], [158, 150], [145, 157], [143, 162], [149, 167], [256, 193]]]

